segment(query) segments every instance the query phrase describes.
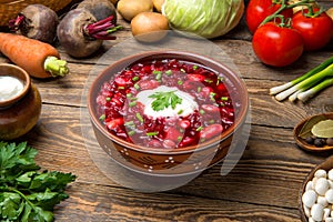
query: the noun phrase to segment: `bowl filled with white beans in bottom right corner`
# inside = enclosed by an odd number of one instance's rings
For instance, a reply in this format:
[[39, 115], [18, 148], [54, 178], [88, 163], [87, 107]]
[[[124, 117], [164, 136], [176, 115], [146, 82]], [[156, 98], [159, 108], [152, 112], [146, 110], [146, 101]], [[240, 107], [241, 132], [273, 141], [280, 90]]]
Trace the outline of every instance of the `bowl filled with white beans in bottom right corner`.
[[300, 213], [303, 222], [333, 222], [333, 157], [305, 178], [300, 192]]

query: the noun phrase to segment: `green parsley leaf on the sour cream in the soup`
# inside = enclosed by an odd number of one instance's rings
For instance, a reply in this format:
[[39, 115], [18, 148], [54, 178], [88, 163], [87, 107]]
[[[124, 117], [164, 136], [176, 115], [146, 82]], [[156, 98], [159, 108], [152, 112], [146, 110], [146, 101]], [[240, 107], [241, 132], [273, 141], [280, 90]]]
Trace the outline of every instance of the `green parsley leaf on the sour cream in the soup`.
[[182, 103], [182, 99], [179, 98], [175, 93], [175, 91], [170, 92], [155, 92], [149, 98], [154, 98], [155, 100], [151, 103], [152, 109], [154, 111], [161, 111], [171, 105], [171, 108], [174, 110], [176, 104]]

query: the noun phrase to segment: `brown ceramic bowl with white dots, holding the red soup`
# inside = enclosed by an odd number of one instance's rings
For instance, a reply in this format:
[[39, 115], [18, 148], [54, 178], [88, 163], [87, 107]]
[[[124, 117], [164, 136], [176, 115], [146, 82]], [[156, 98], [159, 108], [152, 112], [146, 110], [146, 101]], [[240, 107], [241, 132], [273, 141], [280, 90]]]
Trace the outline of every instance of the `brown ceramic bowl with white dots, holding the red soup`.
[[[215, 139], [208, 140], [198, 145], [171, 150], [133, 144], [108, 132], [97, 114], [95, 98], [102, 83], [109, 81], [114, 73], [118, 73], [133, 63], [155, 59], [190, 61], [223, 73], [231, 85], [233, 85], [233, 89], [235, 88], [234, 92], [238, 92], [234, 93], [238, 95], [235, 95], [235, 100], [233, 101], [238, 102], [240, 107], [236, 110], [238, 114], [234, 124]], [[124, 58], [102, 71], [90, 87], [88, 93], [88, 109], [95, 138], [100, 147], [110, 158], [128, 169], [139, 172], [180, 175], [202, 171], [225, 158], [235, 131], [240, 130], [245, 121], [249, 111], [249, 95], [246, 87], [239, 75], [212, 59], [190, 52], [150, 51]]]

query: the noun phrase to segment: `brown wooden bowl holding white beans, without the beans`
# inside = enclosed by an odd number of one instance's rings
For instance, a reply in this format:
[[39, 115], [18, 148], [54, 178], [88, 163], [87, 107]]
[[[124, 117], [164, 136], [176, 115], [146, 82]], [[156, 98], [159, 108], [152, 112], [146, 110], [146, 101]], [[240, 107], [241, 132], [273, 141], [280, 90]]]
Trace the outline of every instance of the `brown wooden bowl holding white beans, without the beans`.
[[302, 202], [302, 195], [305, 192], [305, 186], [309, 181], [311, 181], [314, 178], [315, 171], [323, 169], [325, 171], [330, 171], [333, 169], [333, 157], [327, 158], [323, 162], [319, 163], [316, 167], [314, 167], [311, 172], [306, 175], [305, 180], [302, 183], [302, 188], [300, 190], [300, 196], [299, 196], [299, 210], [302, 222], [307, 222], [309, 218], [305, 215], [304, 209], [303, 209], [303, 202]]

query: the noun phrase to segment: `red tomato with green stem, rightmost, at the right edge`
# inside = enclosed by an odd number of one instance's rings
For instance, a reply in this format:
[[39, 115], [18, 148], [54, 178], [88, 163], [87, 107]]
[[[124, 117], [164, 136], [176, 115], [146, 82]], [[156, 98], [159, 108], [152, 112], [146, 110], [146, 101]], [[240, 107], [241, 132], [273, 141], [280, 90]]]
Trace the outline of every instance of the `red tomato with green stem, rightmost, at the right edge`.
[[321, 49], [331, 41], [333, 21], [325, 12], [317, 17], [306, 17], [306, 13], [307, 9], [296, 12], [292, 18], [291, 26], [301, 32], [306, 51]]

